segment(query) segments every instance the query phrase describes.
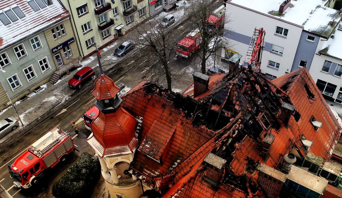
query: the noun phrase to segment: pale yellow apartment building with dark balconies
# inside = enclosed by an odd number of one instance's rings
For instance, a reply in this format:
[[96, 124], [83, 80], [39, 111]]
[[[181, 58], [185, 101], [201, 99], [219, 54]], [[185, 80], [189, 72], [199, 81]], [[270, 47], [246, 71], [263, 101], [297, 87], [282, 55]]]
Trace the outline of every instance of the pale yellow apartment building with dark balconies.
[[87, 58], [149, 16], [148, 0], [61, 0], [71, 15], [80, 55]]

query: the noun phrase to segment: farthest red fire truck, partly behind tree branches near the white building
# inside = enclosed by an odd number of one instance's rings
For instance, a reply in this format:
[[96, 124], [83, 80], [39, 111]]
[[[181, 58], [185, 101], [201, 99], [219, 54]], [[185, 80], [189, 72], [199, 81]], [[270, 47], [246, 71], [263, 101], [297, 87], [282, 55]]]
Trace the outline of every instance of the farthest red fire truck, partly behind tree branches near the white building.
[[214, 12], [208, 16], [206, 20], [206, 30], [212, 33], [217, 29], [223, 28], [225, 16], [226, 8], [224, 5], [221, 5], [218, 9], [214, 10]]

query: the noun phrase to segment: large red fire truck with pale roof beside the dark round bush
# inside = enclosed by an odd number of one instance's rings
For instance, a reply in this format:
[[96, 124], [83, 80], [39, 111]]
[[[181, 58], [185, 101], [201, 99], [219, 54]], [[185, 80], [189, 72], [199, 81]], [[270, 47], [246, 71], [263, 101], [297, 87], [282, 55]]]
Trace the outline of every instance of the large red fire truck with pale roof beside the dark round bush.
[[67, 131], [53, 128], [8, 166], [14, 185], [29, 188], [38, 184], [43, 172], [64, 161], [74, 148], [75, 144]]

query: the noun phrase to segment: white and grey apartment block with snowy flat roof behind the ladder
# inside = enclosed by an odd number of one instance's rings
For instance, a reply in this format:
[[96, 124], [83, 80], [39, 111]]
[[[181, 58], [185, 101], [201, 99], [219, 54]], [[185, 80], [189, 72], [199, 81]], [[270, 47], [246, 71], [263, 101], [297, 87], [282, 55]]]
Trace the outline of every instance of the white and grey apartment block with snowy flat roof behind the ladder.
[[[246, 54], [254, 28], [266, 30], [261, 73], [270, 79], [300, 67], [310, 70], [316, 49], [341, 20], [328, 0], [231, 0], [226, 2], [227, 37], [234, 50]], [[241, 58], [241, 62], [244, 58]]]

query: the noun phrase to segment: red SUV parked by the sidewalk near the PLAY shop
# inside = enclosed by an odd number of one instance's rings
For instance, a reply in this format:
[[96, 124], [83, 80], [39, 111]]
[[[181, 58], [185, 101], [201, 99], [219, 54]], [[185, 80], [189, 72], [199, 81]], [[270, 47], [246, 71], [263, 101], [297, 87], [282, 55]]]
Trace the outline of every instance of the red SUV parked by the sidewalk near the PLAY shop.
[[81, 85], [95, 77], [95, 72], [90, 67], [84, 67], [78, 71], [70, 80], [69, 87], [81, 88]]

